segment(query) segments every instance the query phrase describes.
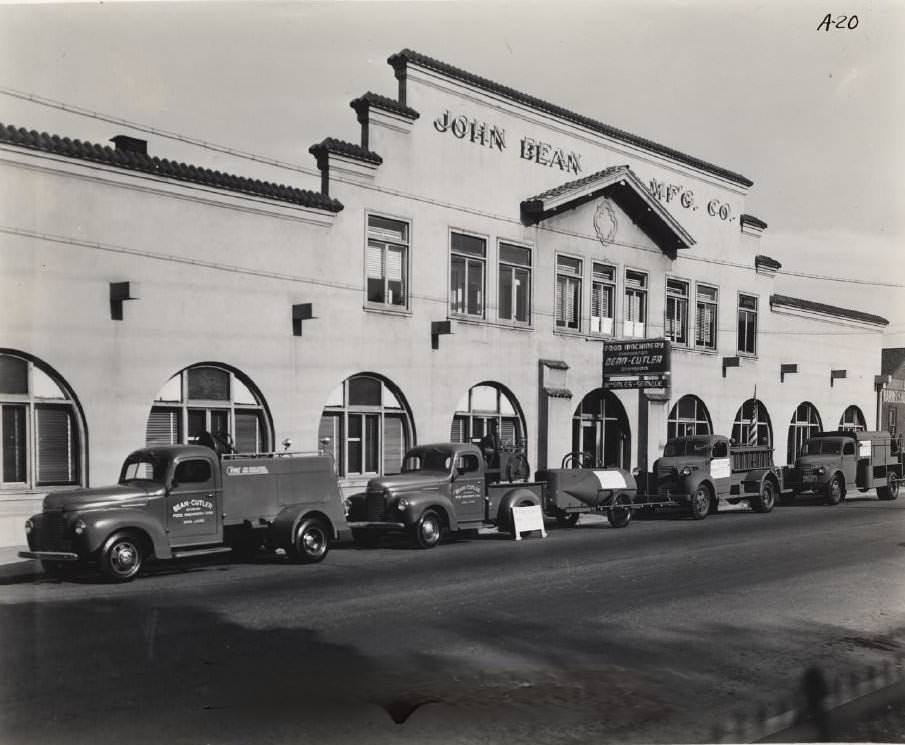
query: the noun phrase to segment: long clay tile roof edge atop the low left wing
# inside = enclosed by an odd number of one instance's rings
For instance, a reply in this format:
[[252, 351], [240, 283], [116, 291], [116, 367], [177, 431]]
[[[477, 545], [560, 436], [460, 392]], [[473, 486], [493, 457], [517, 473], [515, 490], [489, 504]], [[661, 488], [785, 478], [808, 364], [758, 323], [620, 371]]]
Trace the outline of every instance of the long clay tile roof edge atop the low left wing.
[[234, 191], [241, 194], [266, 197], [278, 202], [288, 202], [302, 207], [339, 212], [343, 205], [336, 199], [308, 189], [296, 189], [291, 186], [272, 184], [268, 181], [257, 181], [241, 176], [232, 176], [220, 171], [212, 171], [199, 166], [177, 163], [166, 158], [156, 158], [142, 153], [114, 150], [111, 147], [91, 142], [70, 140], [68, 137], [49, 135], [47, 132], [17, 129], [11, 125], [0, 123], [0, 143], [25, 147], [30, 150], [41, 150], [56, 155], [64, 155], [79, 160], [105, 163], [117, 168], [141, 171], [155, 176], [163, 176], [177, 181], [204, 184], [217, 189]]

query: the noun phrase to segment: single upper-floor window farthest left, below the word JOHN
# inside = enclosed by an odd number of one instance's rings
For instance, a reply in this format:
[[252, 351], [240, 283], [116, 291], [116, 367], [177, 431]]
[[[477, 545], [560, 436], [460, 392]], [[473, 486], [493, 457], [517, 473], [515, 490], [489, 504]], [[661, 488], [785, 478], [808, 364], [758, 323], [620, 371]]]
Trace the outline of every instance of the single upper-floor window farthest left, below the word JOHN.
[[408, 304], [406, 266], [409, 226], [399, 220], [368, 215], [367, 300], [404, 308]]

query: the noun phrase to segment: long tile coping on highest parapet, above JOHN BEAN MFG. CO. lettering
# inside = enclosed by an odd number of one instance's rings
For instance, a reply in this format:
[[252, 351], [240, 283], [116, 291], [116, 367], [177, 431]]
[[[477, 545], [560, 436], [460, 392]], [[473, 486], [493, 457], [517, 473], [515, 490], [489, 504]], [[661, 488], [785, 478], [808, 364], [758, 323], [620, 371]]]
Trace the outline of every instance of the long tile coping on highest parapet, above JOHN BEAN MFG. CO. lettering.
[[629, 145], [634, 145], [635, 147], [643, 148], [649, 152], [663, 155], [667, 158], [678, 161], [679, 163], [684, 163], [686, 165], [692, 166], [693, 168], [698, 168], [702, 171], [706, 171], [707, 173], [712, 173], [716, 176], [728, 179], [729, 181], [741, 184], [742, 186], [752, 186], [754, 183], [753, 181], [751, 181], [751, 179], [747, 178], [746, 176], [742, 176], [739, 173], [735, 173], [725, 168], [721, 168], [720, 166], [713, 165], [712, 163], [708, 163], [707, 161], [701, 160], [700, 158], [695, 158], [694, 156], [688, 155], [679, 150], [674, 150], [673, 148], [666, 147], [665, 145], [661, 145], [657, 142], [654, 142], [653, 140], [638, 137], [637, 135], [633, 135], [631, 132], [626, 132], [625, 130], [611, 127], [610, 125], [604, 124], [603, 122], [597, 121], [596, 119], [591, 119], [590, 117], [583, 116], [582, 114], [576, 114], [574, 111], [569, 111], [568, 109], [564, 109], [561, 106], [549, 103], [548, 101], [544, 101], [543, 99], [535, 98], [534, 96], [523, 93], [522, 91], [516, 90], [515, 88], [509, 88], [505, 85], [500, 85], [499, 83], [495, 83], [492, 80], [482, 78], [479, 75], [467, 72], [466, 70], [462, 70], [461, 68], [453, 67], [446, 62], [441, 62], [440, 60], [428, 57], [424, 54], [421, 54], [420, 52], [415, 52], [411, 49], [403, 49], [401, 52], [398, 52], [389, 57], [387, 59], [387, 62], [392, 65], [393, 69], [397, 72], [400, 69], [404, 69], [405, 65], [408, 63], [420, 65], [421, 67], [435, 70], [436, 72], [439, 72], [449, 78], [474, 86], [475, 88], [481, 88], [502, 98], [508, 98], [510, 101], [515, 101], [525, 106], [530, 106], [531, 108], [542, 111], [545, 114], [552, 114], [553, 116], [565, 119], [566, 121], [574, 122], [575, 124], [587, 127], [588, 129], [594, 132], [598, 132], [606, 137], [611, 137], [614, 140], [620, 140], [621, 142], [625, 142]]

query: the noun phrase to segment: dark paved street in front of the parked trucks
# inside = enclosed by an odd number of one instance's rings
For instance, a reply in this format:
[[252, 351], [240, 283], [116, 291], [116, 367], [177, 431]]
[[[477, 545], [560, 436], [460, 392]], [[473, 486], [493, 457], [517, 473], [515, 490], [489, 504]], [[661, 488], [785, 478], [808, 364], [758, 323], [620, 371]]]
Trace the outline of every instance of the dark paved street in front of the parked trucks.
[[856, 495], [313, 567], [7, 580], [0, 740], [708, 741], [808, 665], [905, 650], [903, 518]]

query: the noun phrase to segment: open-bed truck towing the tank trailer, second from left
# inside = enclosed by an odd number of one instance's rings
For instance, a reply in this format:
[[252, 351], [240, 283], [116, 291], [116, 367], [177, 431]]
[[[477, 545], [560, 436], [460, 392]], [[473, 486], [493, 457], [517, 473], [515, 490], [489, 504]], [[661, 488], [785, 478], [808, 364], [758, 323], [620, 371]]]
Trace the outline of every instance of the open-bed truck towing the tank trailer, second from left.
[[508, 470], [488, 469], [476, 445], [442, 442], [409, 450], [402, 472], [371, 479], [347, 498], [356, 540], [372, 543], [387, 532], [407, 532], [415, 545], [433, 548], [444, 532], [497, 526], [511, 531], [512, 508], [540, 505], [543, 484], [498, 481]]

